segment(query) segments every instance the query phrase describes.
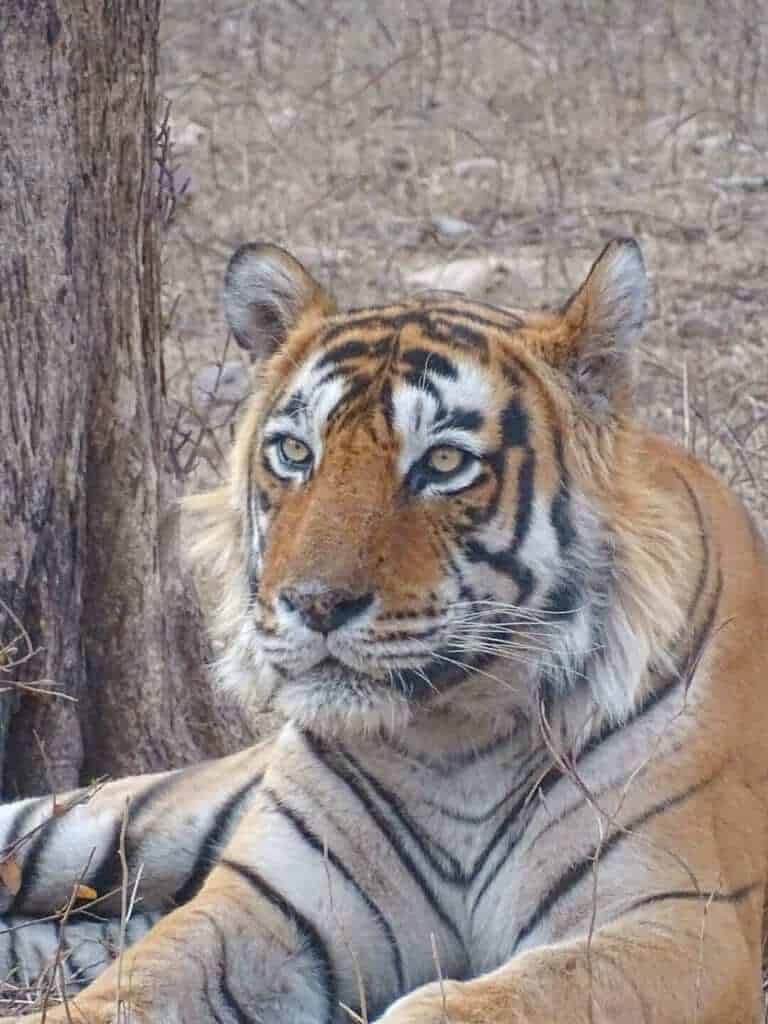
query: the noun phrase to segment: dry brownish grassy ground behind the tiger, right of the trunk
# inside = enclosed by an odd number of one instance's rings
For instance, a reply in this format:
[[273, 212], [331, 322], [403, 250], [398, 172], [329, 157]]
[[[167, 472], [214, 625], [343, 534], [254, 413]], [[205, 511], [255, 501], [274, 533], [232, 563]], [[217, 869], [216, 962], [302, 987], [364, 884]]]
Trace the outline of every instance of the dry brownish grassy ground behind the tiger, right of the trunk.
[[447, 272], [524, 306], [632, 233], [654, 293], [644, 414], [765, 523], [767, 55], [763, 0], [165, 0], [182, 465], [210, 478], [225, 446], [190, 384], [238, 358], [218, 293], [240, 243], [287, 246], [354, 305], [481, 257]]

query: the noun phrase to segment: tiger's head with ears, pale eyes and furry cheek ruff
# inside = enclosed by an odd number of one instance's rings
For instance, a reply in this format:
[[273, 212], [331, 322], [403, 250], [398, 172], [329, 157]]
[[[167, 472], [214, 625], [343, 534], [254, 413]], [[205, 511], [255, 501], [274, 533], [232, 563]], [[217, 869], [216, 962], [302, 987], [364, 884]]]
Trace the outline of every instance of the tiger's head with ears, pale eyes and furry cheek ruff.
[[627, 715], [680, 626], [681, 552], [632, 480], [637, 244], [556, 312], [338, 312], [268, 245], [236, 252], [224, 303], [258, 370], [227, 482], [190, 501], [223, 682], [328, 731], [584, 679]]

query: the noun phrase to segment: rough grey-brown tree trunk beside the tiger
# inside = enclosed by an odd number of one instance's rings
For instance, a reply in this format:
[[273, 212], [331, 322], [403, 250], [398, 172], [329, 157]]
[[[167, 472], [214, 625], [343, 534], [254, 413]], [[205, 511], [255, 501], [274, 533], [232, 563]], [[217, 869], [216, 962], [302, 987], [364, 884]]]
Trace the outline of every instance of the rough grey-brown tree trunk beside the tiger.
[[[0, 685], [47, 680], [75, 698], [17, 685], [0, 697], [6, 796], [248, 738], [205, 681], [175, 530], [161, 542], [177, 481], [161, 351], [158, 18], [159, 0], [0, 5]], [[39, 652], [12, 667], [26, 650], [11, 646], [16, 621]]]

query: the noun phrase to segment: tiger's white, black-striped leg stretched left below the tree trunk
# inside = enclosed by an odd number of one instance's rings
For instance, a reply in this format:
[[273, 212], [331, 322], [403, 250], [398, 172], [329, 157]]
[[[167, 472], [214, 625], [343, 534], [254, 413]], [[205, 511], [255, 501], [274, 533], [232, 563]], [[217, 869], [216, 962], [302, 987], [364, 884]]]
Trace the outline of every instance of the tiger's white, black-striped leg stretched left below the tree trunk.
[[78, 883], [93, 890], [99, 915], [120, 912], [126, 881], [138, 881], [143, 911], [185, 902], [258, 788], [269, 751], [0, 807], [0, 858], [12, 862], [0, 916], [58, 913]]

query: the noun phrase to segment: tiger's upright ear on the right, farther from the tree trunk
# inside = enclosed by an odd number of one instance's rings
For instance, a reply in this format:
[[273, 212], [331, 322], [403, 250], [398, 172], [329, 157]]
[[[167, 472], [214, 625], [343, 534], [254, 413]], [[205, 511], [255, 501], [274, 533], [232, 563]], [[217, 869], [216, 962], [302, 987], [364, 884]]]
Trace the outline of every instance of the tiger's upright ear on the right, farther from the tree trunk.
[[556, 362], [594, 413], [627, 410], [645, 323], [648, 284], [634, 239], [609, 242], [562, 309]]

